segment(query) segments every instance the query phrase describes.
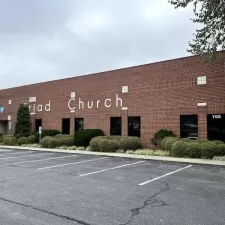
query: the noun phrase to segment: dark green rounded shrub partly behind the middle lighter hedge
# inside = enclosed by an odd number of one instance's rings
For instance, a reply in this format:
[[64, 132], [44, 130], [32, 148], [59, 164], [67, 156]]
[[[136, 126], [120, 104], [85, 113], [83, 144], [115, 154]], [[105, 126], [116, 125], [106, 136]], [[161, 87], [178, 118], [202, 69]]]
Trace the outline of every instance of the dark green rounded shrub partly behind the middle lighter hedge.
[[76, 146], [87, 147], [94, 137], [104, 136], [104, 132], [100, 129], [85, 129], [77, 131], [74, 135], [74, 142]]

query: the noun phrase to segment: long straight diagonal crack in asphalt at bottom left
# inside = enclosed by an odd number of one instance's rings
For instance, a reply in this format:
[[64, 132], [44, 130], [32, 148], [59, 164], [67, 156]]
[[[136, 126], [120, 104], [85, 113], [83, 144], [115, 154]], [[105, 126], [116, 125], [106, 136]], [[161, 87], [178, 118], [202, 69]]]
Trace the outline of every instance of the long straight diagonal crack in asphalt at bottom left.
[[50, 211], [47, 211], [47, 210], [44, 210], [44, 209], [40, 209], [40, 208], [31, 206], [31, 205], [26, 205], [26, 204], [23, 204], [23, 203], [15, 202], [15, 201], [8, 200], [8, 199], [1, 198], [1, 197], [0, 197], [0, 200], [2, 200], [4, 202], [9, 202], [9, 203], [12, 203], [12, 204], [15, 204], [15, 205], [19, 205], [19, 206], [22, 206], [22, 207], [25, 207], [25, 208], [33, 209], [35, 211], [39, 211], [39, 212], [42, 212], [42, 213], [46, 213], [46, 214], [49, 214], [49, 215], [52, 215], [52, 216], [56, 216], [56, 217], [59, 217], [61, 219], [66, 219], [66, 220], [69, 220], [69, 221], [72, 221], [72, 222], [76, 222], [76, 223], [81, 224], [81, 225], [91, 225], [90, 223], [86, 223], [84, 221], [75, 219], [73, 217], [69, 217], [69, 216], [57, 214], [57, 213], [50, 212]]

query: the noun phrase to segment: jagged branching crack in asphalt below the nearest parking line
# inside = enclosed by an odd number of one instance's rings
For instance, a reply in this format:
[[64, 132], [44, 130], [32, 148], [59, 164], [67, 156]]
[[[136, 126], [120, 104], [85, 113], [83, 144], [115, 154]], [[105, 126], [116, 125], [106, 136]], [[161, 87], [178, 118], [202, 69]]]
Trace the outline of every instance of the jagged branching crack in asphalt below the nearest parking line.
[[140, 214], [140, 211], [142, 209], [144, 209], [146, 206], [150, 205], [151, 207], [162, 207], [162, 206], [168, 205], [167, 203], [165, 203], [161, 199], [156, 198], [159, 194], [163, 193], [164, 191], [166, 191], [168, 189], [169, 189], [169, 184], [166, 184], [165, 188], [163, 188], [161, 191], [157, 192], [156, 194], [152, 195], [147, 200], [145, 200], [142, 206], [140, 206], [138, 208], [131, 209], [130, 210], [131, 213], [132, 213], [131, 218], [128, 220], [128, 222], [122, 223], [120, 225], [128, 225], [130, 222], [132, 222], [134, 217], [137, 216], [138, 214]]

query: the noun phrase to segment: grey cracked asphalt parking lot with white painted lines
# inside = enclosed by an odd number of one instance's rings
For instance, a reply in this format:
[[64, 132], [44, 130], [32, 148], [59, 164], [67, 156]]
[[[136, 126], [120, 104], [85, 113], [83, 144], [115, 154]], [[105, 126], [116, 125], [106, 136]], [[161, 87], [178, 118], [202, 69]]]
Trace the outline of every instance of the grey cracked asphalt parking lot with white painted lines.
[[0, 224], [224, 225], [225, 167], [0, 149]]

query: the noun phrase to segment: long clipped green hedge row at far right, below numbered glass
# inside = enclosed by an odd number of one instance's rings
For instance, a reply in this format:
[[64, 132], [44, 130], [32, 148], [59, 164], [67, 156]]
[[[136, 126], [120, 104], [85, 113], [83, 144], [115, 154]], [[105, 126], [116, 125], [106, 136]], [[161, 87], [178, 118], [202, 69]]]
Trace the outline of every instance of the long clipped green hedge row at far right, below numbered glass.
[[162, 149], [169, 151], [174, 157], [212, 159], [215, 156], [225, 156], [225, 143], [222, 141], [166, 137], [162, 141]]

